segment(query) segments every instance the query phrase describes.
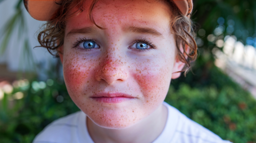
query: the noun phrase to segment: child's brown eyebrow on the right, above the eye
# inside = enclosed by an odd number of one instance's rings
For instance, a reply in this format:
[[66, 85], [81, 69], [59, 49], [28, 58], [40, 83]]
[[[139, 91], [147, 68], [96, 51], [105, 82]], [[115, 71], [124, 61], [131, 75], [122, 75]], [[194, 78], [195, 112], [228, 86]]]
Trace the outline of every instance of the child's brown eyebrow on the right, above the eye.
[[147, 28], [147, 27], [134, 27], [134, 26], [129, 26], [125, 28], [126, 32], [132, 32], [132, 33], [137, 33], [137, 34], [147, 34], [147, 35], [152, 35], [156, 37], [163, 37], [163, 35], [158, 32], [157, 30], [153, 28]]

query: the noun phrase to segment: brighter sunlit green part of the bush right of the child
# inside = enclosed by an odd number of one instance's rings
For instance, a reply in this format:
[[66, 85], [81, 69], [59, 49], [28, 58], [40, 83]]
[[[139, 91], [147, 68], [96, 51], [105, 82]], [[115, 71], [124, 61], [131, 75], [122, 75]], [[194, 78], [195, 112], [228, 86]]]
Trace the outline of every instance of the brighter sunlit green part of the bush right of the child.
[[222, 139], [256, 141], [256, 101], [241, 88], [199, 89], [182, 84], [178, 90], [171, 86], [165, 101]]

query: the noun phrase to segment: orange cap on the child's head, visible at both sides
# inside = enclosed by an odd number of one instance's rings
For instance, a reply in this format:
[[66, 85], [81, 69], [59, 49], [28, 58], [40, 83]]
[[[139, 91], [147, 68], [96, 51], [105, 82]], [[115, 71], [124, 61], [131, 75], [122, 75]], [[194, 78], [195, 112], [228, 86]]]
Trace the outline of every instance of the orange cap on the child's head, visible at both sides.
[[[62, 0], [24, 0], [26, 10], [31, 17], [40, 21], [48, 21], [53, 18], [60, 7], [58, 2]], [[183, 15], [188, 16], [192, 12], [192, 0], [173, 0]]]

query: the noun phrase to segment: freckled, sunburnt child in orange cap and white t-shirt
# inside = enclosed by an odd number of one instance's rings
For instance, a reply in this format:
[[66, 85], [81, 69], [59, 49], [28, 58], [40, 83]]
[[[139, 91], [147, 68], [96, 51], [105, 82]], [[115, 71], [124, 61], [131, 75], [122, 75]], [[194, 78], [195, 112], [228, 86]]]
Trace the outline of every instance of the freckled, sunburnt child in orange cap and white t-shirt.
[[195, 59], [192, 0], [24, 0], [48, 21], [38, 40], [60, 57], [80, 112], [34, 143], [224, 143], [163, 102]]

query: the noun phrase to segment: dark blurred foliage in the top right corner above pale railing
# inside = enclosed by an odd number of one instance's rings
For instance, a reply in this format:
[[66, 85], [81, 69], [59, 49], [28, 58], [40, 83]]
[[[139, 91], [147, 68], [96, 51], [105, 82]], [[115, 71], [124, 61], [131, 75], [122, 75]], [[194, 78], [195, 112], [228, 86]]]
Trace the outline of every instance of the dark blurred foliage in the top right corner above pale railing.
[[[197, 43], [198, 39], [199, 41], [202, 40], [201, 44], [198, 44], [200, 49], [211, 51], [216, 46], [215, 42], [218, 39], [224, 40], [227, 35], [235, 35], [237, 41], [256, 46], [255, 39], [254, 43], [247, 41], [248, 37], [252, 39], [256, 37], [256, 1], [194, 0], [193, 3], [191, 18], [196, 25]], [[219, 34], [215, 33], [217, 27], [222, 29]], [[200, 34], [200, 29], [205, 30], [203, 32], [205, 34]], [[208, 35], [212, 35], [213, 39], [207, 39]]]

